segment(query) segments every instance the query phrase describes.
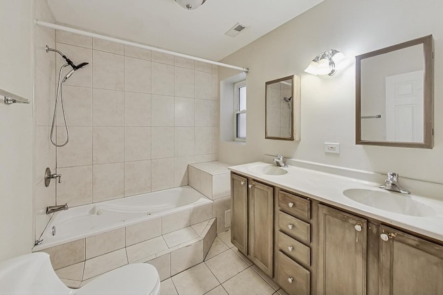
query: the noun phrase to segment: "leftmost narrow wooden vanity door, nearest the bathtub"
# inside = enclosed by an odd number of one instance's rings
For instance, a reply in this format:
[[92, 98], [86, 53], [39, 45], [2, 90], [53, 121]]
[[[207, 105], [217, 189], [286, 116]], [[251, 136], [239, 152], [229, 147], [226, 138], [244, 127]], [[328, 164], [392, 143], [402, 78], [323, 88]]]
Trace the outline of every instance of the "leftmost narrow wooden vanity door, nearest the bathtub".
[[247, 255], [248, 245], [248, 180], [230, 175], [230, 240], [237, 249]]

